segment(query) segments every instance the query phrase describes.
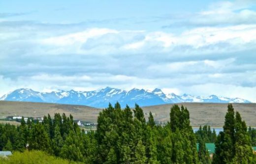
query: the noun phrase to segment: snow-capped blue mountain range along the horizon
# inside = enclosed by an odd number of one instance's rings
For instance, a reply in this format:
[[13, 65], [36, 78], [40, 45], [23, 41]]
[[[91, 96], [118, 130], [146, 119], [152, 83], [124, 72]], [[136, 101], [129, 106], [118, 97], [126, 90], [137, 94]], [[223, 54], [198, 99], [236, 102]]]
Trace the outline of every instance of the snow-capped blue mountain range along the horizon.
[[6, 101], [26, 101], [26, 102], [45, 102], [60, 104], [87, 105], [96, 108], [105, 108], [109, 103], [117, 101], [122, 107], [126, 104], [133, 107], [135, 103], [140, 106], [152, 106], [168, 103], [181, 102], [202, 102], [202, 103], [250, 103], [248, 100], [240, 98], [226, 98], [210, 95], [208, 97], [192, 96], [183, 94], [181, 96], [174, 93], [165, 94], [161, 89], [156, 88], [153, 91], [133, 88], [129, 91], [117, 88], [101, 88], [93, 91], [52, 91], [37, 92], [28, 88], [14, 90], [3, 95], [0, 100]]

